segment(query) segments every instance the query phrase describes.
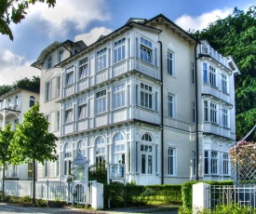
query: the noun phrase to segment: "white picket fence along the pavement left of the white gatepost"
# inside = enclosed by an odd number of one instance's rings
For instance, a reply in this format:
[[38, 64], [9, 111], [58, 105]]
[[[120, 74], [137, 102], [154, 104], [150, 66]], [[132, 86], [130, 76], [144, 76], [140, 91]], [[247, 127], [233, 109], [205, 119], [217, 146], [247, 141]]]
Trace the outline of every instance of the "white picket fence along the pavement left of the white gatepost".
[[[36, 181], [35, 197], [45, 200], [60, 199], [68, 203], [74, 202], [78, 204], [85, 204], [87, 201], [88, 205], [90, 205], [93, 183], [96, 183], [96, 181], [89, 181], [88, 188], [86, 188], [86, 182]], [[0, 181], [0, 190], [2, 190], [2, 181]], [[15, 196], [29, 195], [32, 197], [33, 181], [5, 181], [5, 194]]]

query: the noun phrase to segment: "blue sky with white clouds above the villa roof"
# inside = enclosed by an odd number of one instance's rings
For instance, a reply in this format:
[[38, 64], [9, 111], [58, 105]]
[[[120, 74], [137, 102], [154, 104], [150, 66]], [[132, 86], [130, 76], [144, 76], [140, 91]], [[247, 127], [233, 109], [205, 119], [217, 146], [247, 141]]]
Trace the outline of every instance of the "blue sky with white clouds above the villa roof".
[[185, 31], [202, 30], [232, 14], [235, 7], [247, 11], [253, 5], [255, 0], [57, 0], [54, 8], [36, 3], [25, 20], [10, 25], [13, 41], [0, 34], [0, 86], [40, 76], [31, 64], [55, 41], [83, 40], [90, 45], [129, 18], [150, 20], [159, 14]]

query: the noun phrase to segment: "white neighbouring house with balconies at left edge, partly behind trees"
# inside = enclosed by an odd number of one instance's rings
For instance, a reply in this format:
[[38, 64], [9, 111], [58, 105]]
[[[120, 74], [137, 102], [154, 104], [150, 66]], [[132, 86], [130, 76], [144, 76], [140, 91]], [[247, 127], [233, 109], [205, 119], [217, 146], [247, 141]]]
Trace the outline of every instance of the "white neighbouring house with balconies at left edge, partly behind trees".
[[[14, 89], [0, 96], [0, 127], [10, 124], [12, 129], [22, 123], [23, 115], [39, 101], [39, 91], [34, 89]], [[11, 180], [31, 180], [32, 163], [18, 166], [6, 164], [5, 178]], [[1, 173], [1, 178], [3, 174]]]

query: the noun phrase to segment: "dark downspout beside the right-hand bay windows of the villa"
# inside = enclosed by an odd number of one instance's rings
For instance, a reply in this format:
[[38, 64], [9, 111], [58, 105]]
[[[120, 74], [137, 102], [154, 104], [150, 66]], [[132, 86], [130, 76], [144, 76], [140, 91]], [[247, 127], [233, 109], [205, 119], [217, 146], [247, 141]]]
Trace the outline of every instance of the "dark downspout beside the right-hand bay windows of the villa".
[[198, 86], [197, 86], [197, 65], [196, 65], [196, 47], [198, 43], [195, 44], [195, 160], [196, 160], [196, 170], [195, 170], [195, 180], [199, 181], [199, 136], [198, 136]]

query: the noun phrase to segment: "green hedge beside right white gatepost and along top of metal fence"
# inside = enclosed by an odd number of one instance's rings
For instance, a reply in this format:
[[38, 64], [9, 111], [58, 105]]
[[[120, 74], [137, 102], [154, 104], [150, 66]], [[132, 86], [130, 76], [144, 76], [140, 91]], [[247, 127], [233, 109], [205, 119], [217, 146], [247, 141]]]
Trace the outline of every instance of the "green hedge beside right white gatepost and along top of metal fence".
[[187, 181], [182, 183], [182, 206], [183, 208], [192, 207], [192, 186], [198, 182], [205, 182], [209, 185], [233, 185], [233, 181]]

